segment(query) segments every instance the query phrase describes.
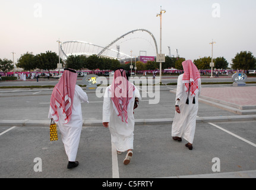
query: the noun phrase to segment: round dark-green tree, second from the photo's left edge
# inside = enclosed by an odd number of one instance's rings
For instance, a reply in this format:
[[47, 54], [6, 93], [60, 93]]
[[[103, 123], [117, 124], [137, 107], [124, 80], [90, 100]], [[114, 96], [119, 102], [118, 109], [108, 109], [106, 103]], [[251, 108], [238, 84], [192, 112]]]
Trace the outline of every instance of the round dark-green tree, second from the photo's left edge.
[[17, 66], [23, 68], [25, 71], [35, 69], [37, 66], [36, 56], [34, 56], [32, 52], [24, 53], [20, 56], [20, 59], [18, 59]]

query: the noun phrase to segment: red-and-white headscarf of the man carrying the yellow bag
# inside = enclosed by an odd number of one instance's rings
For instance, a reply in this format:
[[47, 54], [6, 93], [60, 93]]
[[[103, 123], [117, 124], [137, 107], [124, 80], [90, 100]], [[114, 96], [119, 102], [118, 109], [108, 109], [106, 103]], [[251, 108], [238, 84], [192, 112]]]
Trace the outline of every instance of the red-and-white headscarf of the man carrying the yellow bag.
[[[77, 73], [65, 70], [59, 83], [55, 85], [50, 97], [50, 114], [55, 122], [59, 121], [59, 115], [64, 116], [65, 123], [71, 119], [73, 99]], [[58, 112], [61, 109], [61, 113]]]

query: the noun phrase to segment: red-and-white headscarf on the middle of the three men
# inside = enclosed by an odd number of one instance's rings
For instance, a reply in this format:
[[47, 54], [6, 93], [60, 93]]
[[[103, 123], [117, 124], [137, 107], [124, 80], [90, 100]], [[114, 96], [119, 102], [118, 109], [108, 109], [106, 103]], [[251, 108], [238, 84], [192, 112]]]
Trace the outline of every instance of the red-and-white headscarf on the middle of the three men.
[[127, 80], [125, 70], [117, 69], [114, 73], [113, 82], [110, 86], [111, 100], [116, 114], [128, 124], [127, 107], [133, 97], [134, 85]]

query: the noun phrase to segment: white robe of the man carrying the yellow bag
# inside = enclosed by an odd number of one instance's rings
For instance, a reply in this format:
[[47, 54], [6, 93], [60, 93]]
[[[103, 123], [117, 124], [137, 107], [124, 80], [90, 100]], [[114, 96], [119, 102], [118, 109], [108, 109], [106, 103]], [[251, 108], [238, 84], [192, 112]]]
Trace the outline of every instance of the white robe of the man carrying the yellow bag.
[[[64, 116], [61, 114], [62, 110], [58, 108], [59, 121], [57, 122], [57, 124], [59, 130], [61, 131], [62, 142], [68, 156], [68, 161], [70, 162], [75, 162], [75, 158], [77, 157], [81, 129], [83, 126], [81, 102], [88, 103], [87, 94], [80, 86], [75, 85], [72, 114], [68, 124], [64, 124]], [[52, 118], [50, 112], [48, 118]]]

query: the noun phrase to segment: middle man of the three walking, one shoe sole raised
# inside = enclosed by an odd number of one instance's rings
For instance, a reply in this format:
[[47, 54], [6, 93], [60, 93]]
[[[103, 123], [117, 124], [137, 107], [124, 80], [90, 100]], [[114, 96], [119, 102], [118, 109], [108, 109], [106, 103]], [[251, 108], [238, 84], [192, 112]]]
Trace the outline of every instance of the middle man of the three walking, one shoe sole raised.
[[129, 164], [133, 155], [135, 97], [141, 99], [138, 89], [127, 80], [123, 68], [116, 69], [112, 84], [106, 88], [102, 123], [109, 127], [117, 153], [127, 151], [125, 165]]

